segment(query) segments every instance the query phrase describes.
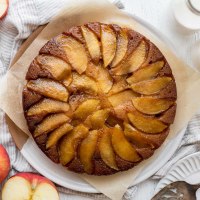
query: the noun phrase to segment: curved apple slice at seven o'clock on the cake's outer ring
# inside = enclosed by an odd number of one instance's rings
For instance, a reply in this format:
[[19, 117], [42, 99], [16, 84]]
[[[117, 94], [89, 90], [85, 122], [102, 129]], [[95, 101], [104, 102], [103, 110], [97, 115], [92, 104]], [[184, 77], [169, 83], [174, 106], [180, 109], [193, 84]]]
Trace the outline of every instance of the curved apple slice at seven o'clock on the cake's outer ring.
[[88, 128], [83, 124], [76, 126], [60, 143], [60, 162], [67, 165], [74, 157], [78, 143], [86, 138]]

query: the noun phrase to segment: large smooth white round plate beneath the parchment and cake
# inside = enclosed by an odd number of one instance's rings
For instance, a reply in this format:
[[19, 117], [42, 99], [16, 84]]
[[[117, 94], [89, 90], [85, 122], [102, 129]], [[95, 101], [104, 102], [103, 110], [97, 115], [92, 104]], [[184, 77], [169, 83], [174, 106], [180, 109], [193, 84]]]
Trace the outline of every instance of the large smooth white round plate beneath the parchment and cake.
[[[139, 19], [136, 16], [131, 15], [136, 21], [143, 24], [146, 28], [148, 28], [152, 33], [154, 33], [160, 40], [164, 41], [166, 45], [168, 45], [171, 49], [173, 46], [158, 30], [153, 28], [151, 25], [147, 24], [143, 20]], [[182, 137], [185, 133], [185, 128], [177, 133], [176, 137], [169, 142], [165, 142], [159, 150], [157, 150], [154, 155], [148, 159], [150, 161], [147, 167], [145, 167], [140, 174], [133, 180], [130, 186], [136, 185], [158, 171], [174, 154], [176, 149], [178, 148]], [[23, 146], [21, 150], [22, 155], [25, 159], [42, 175], [46, 176], [53, 182], [61, 185], [63, 187], [73, 189], [81, 192], [88, 193], [99, 193], [93, 186], [89, 183], [85, 182], [80, 178], [78, 174], [70, 172], [66, 170], [64, 167], [57, 165], [50, 161], [37, 147], [35, 142], [29, 138], [26, 144]], [[56, 170], [55, 170], [56, 169]], [[59, 173], [58, 173], [59, 172]]]

